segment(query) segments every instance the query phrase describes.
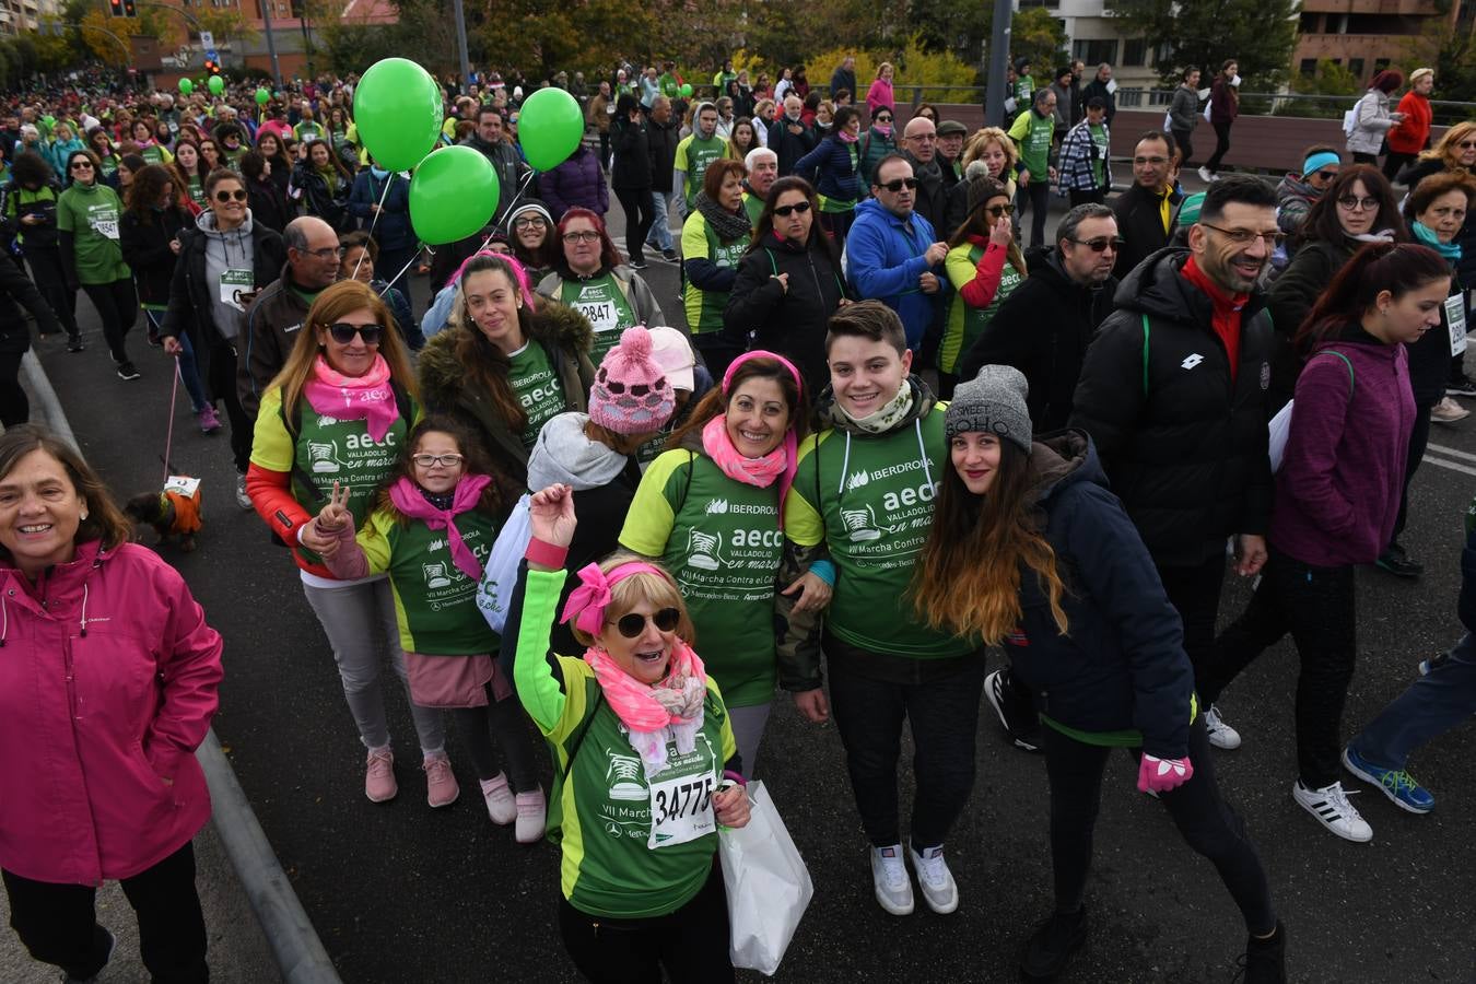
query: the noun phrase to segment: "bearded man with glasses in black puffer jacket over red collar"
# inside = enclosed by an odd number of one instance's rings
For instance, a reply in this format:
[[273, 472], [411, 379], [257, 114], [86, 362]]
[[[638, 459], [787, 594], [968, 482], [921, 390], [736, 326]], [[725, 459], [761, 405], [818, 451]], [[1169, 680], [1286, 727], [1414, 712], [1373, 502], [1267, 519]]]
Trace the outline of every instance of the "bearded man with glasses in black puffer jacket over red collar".
[[[1188, 249], [1150, 257], [1117, 291], [1070, 420], [1153, 555], [1196, 673], [1215, 642], [1227, 537], [1241, 577], [1266, 562], [1272, 330], [1256, 280], [1281, 238], [1275, 204], [1249, 174], [1210, 184]], [[1200, 711], [1210, 744], [1240, 745], [1213, 707]]]

